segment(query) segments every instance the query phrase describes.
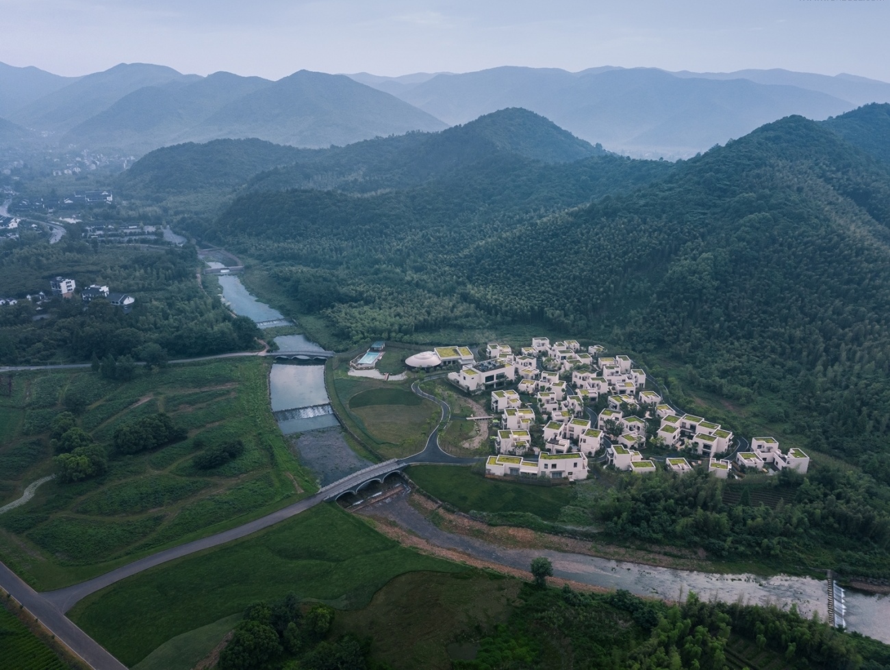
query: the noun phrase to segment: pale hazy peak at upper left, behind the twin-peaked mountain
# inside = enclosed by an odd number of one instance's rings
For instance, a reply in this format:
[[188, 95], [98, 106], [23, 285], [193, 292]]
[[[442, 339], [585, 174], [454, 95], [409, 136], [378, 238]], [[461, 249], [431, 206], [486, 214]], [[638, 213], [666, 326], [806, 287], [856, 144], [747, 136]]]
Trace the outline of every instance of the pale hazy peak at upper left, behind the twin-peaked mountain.
[[193, 81], [196, 77], [161, 65], [121, 63], [44, 95], [15, 111], [10, 120], [36, 130], [63, 133], [143, 86]]

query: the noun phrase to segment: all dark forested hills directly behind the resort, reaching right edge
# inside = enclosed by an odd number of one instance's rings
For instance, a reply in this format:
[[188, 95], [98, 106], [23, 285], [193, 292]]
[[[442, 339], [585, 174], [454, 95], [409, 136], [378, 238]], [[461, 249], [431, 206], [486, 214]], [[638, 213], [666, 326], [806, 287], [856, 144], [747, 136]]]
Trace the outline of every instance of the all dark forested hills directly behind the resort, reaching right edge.
[[[641, 190], [540, 214], [618, 193], [621, 159], [508, 156], [361, 198], [246, 196], [214, 234], [345, 341], [514, 322], [607, 335], [725, 398], [769, 398], [770, 420], [818, 448], [886, 445], [890, 168], [789, 117]], [[624, 169], [643, 165], [659, 166]]]

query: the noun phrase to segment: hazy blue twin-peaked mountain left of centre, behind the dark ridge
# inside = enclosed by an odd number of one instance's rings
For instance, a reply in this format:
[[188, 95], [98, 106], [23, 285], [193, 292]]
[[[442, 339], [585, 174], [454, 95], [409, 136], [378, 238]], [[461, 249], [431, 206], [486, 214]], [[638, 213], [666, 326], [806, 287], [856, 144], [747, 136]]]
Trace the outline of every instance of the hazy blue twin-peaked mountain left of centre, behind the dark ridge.
[[300, 147], [445, 124], [349, 77], [301, 70], [271, 82], [217, 72], [135, 90], [65, 135], [65, 141], [136, 154], [183, 141], [257, 137]]

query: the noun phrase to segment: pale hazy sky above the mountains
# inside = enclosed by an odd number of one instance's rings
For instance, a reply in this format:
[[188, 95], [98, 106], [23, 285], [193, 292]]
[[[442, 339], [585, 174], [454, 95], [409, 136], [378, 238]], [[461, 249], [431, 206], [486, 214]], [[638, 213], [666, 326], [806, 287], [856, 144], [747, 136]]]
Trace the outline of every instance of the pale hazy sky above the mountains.
[[890, 0], [0, 0], [0, 61], [298, 69], [785, 68], [890, 81]]

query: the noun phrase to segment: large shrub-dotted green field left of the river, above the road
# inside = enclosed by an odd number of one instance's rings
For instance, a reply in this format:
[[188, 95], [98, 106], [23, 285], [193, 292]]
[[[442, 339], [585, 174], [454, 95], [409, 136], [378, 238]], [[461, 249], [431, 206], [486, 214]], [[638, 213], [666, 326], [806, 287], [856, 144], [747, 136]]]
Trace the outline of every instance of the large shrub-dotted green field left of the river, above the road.
[[[0, 396], [0, 413], [13, 419], [0, 443], [0, 505], [53, 472], [48, 431], [66, 394], [86, 401], [77, 423], [107, 448], [117, 426], [158, 411], [189, 438], [112, 455], [93, 480], [45, 483], [27, 505], [0, 515], [0, 558], [31, 585], [56, 588], [293, 502], [295, 482], [314, 490], [271, 416], [267, 379], [268, 365], [253, 358], [170, 366], [128, 383], [88, 370], [17, 373], [12, 395]], [[238, 458], [195, 466], [200, 443], [236, 439], [245, 445]]]

